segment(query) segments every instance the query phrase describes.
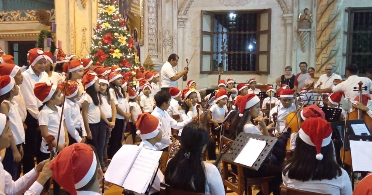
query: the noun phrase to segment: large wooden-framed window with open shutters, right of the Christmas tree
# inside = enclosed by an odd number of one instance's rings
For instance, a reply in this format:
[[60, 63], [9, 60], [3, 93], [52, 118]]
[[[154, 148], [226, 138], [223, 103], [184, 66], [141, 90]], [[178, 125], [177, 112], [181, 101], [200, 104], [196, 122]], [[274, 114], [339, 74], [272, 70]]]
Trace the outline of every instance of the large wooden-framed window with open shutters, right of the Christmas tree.
[[269, 74], [271, 9], [201, 12], [200, 73]]

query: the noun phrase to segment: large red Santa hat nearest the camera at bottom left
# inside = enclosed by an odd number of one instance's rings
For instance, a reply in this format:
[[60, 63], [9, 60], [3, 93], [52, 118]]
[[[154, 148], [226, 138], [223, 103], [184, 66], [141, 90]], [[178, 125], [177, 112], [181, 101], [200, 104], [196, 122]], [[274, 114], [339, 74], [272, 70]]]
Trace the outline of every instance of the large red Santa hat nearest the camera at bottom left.
[[74, 143], [63, 149], [49, 167], [52, 178], [71, 195], [77, 195], [76, 189], [86, 186], [96, 173], [97, 157], [88, 144]]

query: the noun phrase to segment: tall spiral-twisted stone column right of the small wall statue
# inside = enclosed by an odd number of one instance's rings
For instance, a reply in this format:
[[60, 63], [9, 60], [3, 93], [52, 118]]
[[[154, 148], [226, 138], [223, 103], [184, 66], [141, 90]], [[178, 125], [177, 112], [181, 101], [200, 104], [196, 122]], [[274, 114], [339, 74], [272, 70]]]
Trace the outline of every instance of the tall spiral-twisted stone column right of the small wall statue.
[[315, 77], [324, 73], [325, 65], [334, 66], [339, 73], [342, 62], [343, 0], [321, 0], [317, 11], [317, 46], [315, 50]]

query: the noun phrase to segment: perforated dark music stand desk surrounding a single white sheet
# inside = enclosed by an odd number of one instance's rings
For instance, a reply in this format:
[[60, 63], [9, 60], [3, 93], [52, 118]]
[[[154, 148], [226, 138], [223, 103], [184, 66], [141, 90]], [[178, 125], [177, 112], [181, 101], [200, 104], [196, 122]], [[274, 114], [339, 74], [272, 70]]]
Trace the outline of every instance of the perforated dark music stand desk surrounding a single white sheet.
[[227, 162], [235, 163], [234, 160], [240, 155], [241, 151], [250, 139], [264, 140], [266, 142], [266, 146], [264, 147], [256, 161], [253, 163], [253, 166], [250, 167], [242, 164], [240, 165], [248, 169], [258, 170], [262, 163], [265, 161], [266, 157], [269, 155], [278, 138], [241, 132], [235, 138], [230, 147], [230, 150], [228, 150], [228, 152], [225, 153], [222, 158]]

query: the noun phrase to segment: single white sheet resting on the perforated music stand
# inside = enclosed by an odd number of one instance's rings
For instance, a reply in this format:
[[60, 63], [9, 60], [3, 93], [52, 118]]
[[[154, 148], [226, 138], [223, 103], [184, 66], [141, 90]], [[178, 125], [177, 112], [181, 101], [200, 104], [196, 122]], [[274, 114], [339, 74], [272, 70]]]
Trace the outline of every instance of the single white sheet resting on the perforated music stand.
[[250, 138], [234, 162], [250, 167], [253, 166], [265, 146], [266, 142], [264, 140]]

